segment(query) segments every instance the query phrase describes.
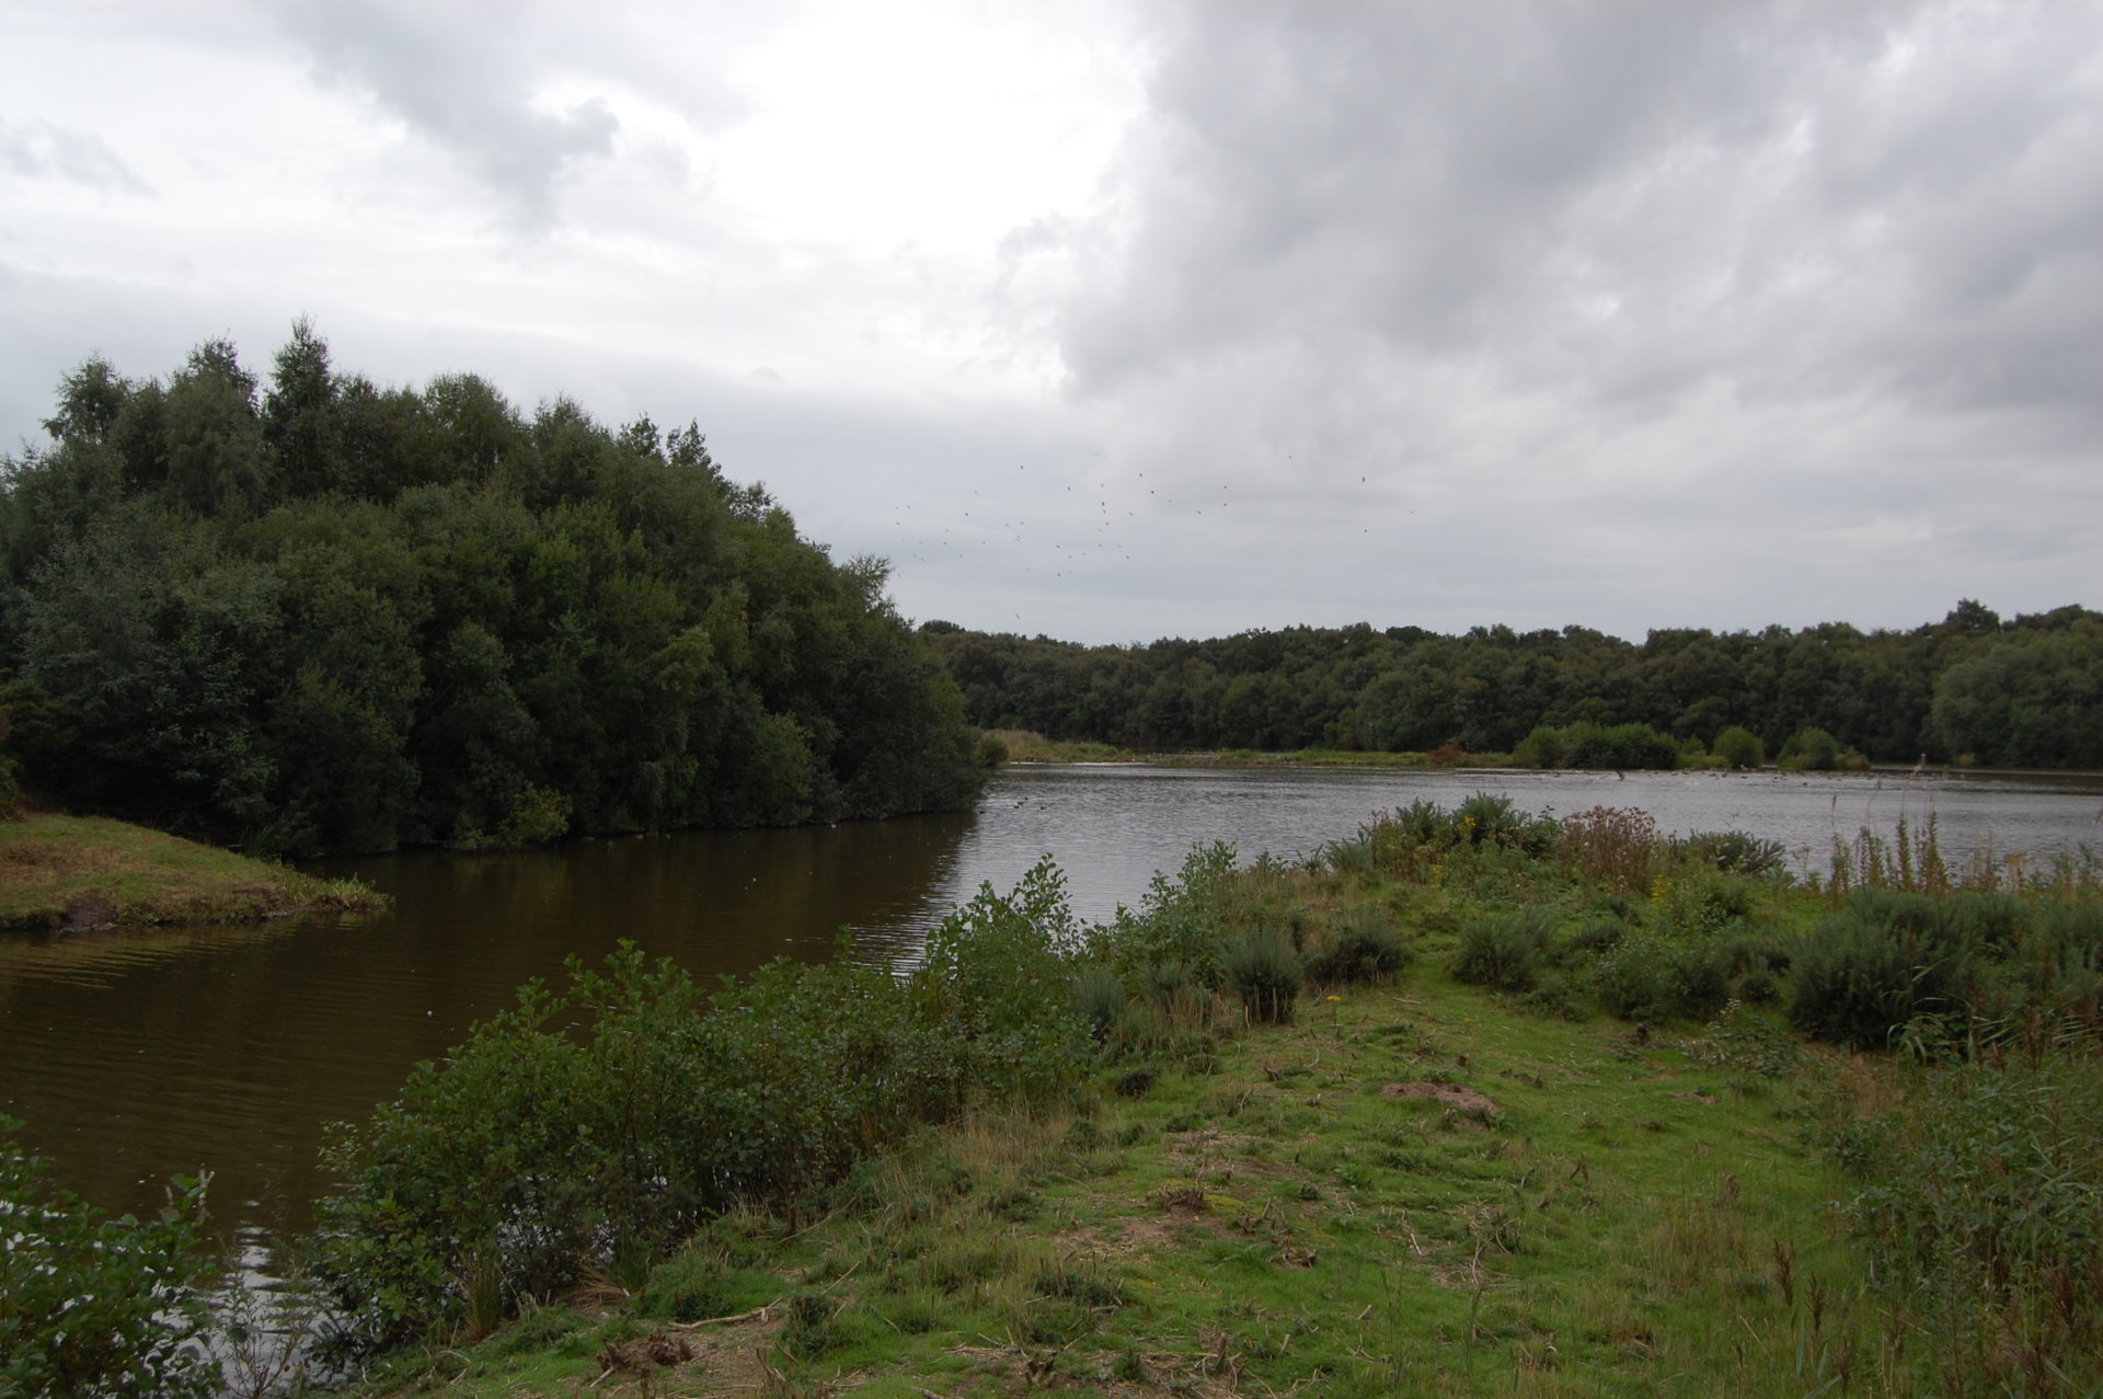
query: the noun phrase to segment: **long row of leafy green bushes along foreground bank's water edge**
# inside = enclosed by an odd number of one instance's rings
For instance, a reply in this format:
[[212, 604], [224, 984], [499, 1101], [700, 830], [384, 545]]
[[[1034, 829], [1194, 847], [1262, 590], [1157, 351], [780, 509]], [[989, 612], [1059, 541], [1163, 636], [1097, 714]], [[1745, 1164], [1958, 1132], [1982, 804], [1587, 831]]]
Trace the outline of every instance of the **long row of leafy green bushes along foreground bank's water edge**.
[[740, 1201], [793, 1216], [915, 1123], [1064, 1100], [1085, 1067], [1073, 936], [1045, 863], [959, 907], [904, 980], [776, 961], [707, 995], [633, 947], [604, 972], [572, 964], [566, 991], [528, 985], [336, 1130], [347, 1184], [320, 1205], [320, 1273], [362, 1342], [486, 1330]]

